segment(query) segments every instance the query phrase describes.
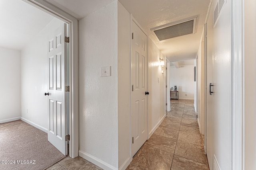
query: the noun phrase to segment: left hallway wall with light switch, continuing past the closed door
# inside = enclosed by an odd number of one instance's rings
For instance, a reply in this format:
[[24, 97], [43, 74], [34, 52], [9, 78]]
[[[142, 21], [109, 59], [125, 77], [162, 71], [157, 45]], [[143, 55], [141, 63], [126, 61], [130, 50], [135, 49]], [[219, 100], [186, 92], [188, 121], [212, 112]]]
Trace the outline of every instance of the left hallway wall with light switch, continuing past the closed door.
[[[79, 20], [79, 37], [79, 155], [104, 169], [126, 168], [131, 159], [130, 13], [112, 2]], [[160, 57], [165, 61], [149, 40], [149, 136], [166, 115]], [[111, 66], [110, 77], [100, 77], [101, 66]]]

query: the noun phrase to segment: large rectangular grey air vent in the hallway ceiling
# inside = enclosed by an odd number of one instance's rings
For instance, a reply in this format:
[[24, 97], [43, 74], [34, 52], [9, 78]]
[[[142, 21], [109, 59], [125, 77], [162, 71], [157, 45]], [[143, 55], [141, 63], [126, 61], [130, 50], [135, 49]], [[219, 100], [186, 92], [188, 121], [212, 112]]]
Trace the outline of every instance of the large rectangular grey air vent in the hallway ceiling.
[[150, 30], [154, 31], [159, 41], [163, 41], [174, 37], [194, 34], [196, 29], [196, 20], [197, 17], [186, 21], [168, 23], [159, 27], [152, 28]]

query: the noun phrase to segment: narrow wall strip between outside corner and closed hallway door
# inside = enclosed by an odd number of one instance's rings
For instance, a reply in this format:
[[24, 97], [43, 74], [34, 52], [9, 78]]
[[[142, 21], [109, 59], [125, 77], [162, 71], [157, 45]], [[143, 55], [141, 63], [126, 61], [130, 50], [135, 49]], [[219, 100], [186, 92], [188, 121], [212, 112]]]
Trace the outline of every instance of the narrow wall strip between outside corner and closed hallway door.
[[130, 163], [130, 68], [130, 13], [118, 1], [118, 168]]

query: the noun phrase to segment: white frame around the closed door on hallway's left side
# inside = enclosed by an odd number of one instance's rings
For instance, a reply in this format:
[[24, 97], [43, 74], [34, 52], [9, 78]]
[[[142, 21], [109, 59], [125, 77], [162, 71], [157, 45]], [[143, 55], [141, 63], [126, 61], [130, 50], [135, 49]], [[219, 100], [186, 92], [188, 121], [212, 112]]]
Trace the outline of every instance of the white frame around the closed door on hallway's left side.
[[[134, 22], [141, 31], [147, 36], [147, 61], [148, 61], [148, 34], [142, 29], [140, 24], [135, 20], [135, 18], [130, 14], [130, 35], [132, 35], [132, 22]], [[132, 36], [130, 36], [130, 161], [132, 162]], [[148, 91], [148, 64], [147, 64], [147, 91]], [[148, 96], [147, 96], [148, 98]], [[147, 140], [148, 136], [148, 100], [147, 100]]]

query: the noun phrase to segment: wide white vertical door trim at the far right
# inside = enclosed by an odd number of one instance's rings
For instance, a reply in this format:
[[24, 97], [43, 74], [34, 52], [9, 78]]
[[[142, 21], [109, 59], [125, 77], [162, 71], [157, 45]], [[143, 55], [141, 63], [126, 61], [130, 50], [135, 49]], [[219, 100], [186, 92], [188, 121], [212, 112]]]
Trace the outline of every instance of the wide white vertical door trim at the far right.
[[244, 0], [231, 1], [232, 167], [244, 170]]

